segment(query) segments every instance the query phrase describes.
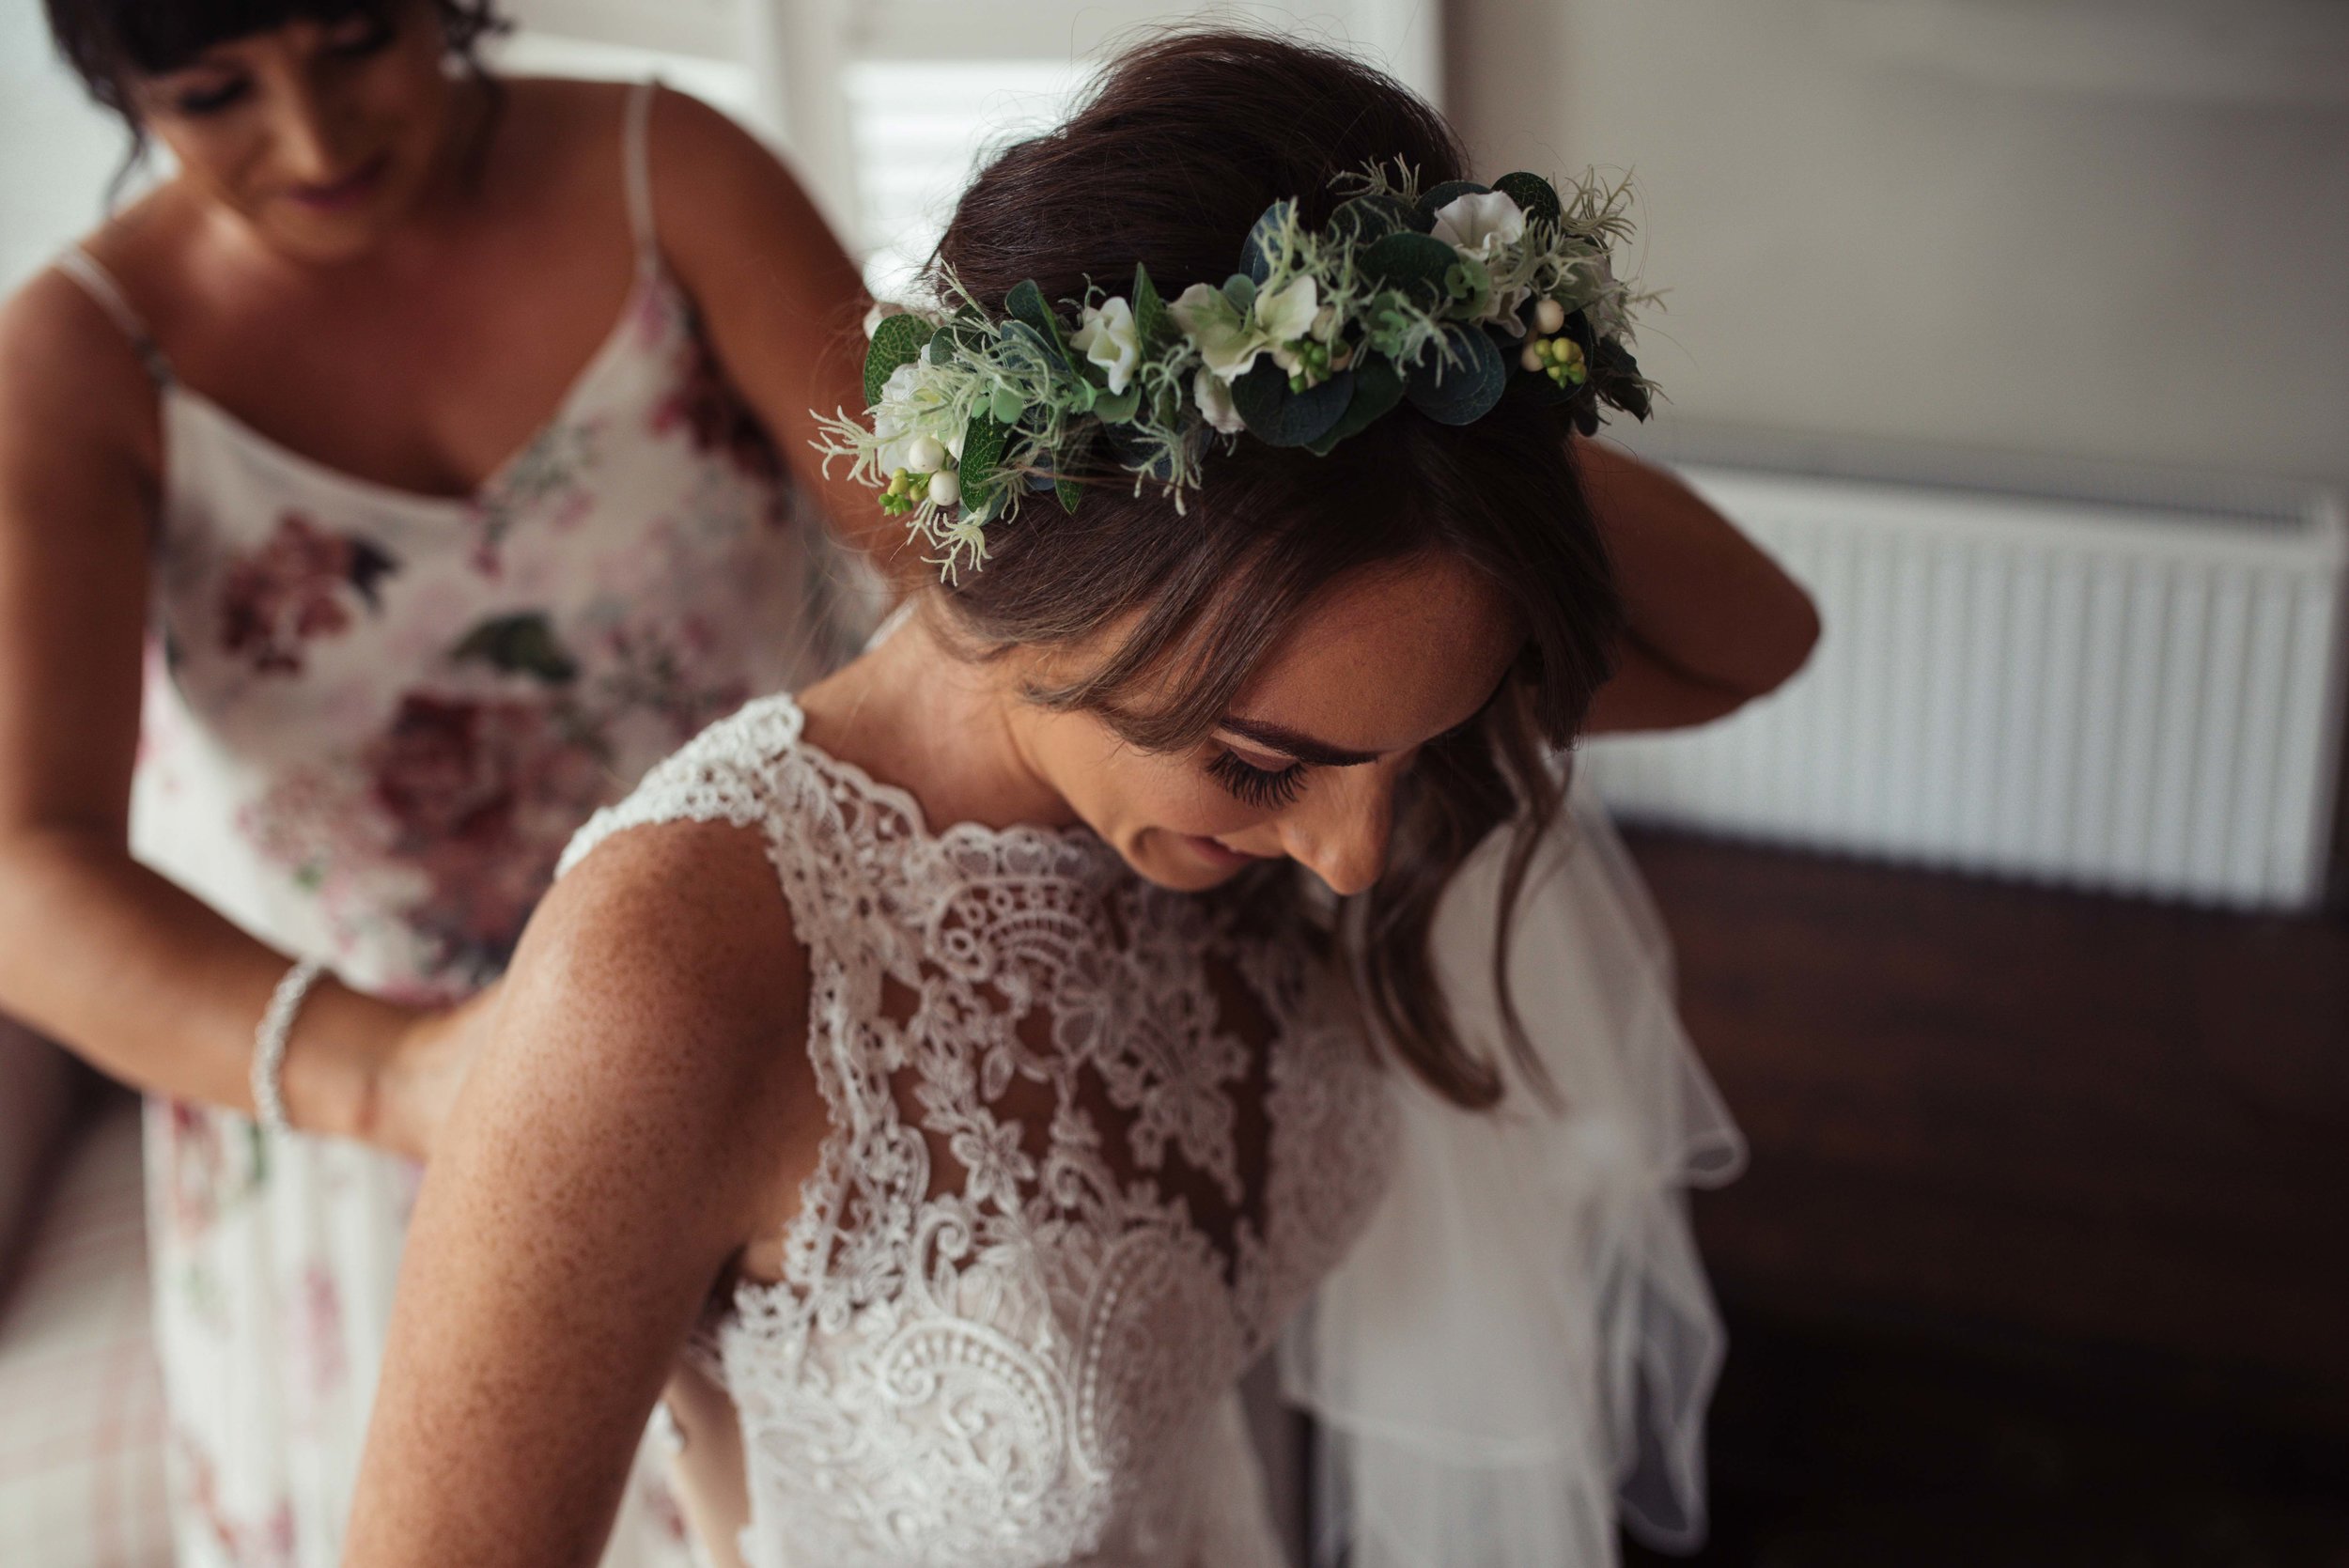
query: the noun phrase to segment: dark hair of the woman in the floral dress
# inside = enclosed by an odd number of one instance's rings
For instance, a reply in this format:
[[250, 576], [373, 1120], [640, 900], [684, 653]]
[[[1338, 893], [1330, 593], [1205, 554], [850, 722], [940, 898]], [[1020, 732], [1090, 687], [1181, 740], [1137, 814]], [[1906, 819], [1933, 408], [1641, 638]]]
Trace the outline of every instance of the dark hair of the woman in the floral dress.
[[146, 153], [146, 129], [132, 108], [132, 82], [193, 63], [204, 49], [268, 33], [289, 21], [345, 16], [399, 19], [430, 7], [449, 54], [484, 75], [474, 49], [505, 31], [496, 0], [42, 0], [56, 52], [82, 77], [89, 96], [115, 110], [132, 131], [124, 171]]

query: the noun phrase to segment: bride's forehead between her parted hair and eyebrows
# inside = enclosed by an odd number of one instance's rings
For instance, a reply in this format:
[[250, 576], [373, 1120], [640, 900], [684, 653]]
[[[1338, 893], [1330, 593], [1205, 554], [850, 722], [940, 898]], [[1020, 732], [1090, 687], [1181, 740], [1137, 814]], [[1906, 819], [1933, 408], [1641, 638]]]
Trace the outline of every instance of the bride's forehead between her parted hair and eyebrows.
[[1236, 714], [1348, 749], [1414, 746], [1482, 707], [1522, 638], [1508, 599], [1468, 563], [1395, 561], [1306, 606]]

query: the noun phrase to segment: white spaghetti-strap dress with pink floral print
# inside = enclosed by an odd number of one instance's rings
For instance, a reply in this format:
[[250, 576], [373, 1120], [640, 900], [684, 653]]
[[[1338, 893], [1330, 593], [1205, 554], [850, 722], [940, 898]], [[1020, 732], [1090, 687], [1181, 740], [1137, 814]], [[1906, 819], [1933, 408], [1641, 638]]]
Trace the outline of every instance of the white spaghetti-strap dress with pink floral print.
[[[493, 979], [571, 833], [747, 697], [829, 664], [813, 526], [662, 270], [474, 495], [352, 479], [169, 378], [132, 847], [294, 955], [406, 1002]], [[155, 1326], [183, 1568], [341, 1561], [418, 1167], [150, 1101]], [[651, 1460], [606, 1563], [674, 1559]]]

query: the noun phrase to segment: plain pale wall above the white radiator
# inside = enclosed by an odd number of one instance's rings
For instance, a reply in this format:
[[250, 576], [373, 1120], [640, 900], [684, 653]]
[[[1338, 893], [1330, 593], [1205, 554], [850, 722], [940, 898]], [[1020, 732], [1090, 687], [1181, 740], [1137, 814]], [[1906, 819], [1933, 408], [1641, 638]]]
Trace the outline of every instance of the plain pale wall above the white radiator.
[[2349, 5], [1452, 0], [1478, 169], [1630, 167], [1689, 423], [2349, 484]]

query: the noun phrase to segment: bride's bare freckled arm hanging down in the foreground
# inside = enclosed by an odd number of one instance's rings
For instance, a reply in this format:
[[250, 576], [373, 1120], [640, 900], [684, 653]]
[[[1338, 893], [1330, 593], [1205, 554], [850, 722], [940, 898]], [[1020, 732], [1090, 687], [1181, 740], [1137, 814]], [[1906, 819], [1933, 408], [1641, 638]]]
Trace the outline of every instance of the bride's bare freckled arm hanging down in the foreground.
[[761, 850], [620, 833], [531, 920], [416, 1204], [352, 1568], [599, 1559], [653, 1399], [820, 1106]]

